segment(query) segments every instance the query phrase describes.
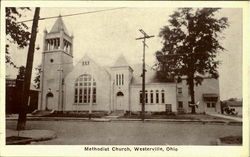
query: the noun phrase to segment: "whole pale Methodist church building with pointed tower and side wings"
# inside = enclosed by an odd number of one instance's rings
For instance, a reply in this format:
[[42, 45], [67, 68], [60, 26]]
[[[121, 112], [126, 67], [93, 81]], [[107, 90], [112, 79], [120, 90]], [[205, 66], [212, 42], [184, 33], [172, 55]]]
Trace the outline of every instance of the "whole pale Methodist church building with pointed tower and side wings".
[[[73, 66], [73, 36], [60, 16], [50, 32], [44, 31], [42, 69], [39, 110], [141, 111], [142, 65], [129, 65], [121, 55], [104, 67], [85, 54]], [[185, 79], [159, 82], [154, 69], [146, 70], [146, 112], [191, 112]], [[195, 87], [195, 100], [198, 113], [220, 113], [219, 81], [204, 78]]]

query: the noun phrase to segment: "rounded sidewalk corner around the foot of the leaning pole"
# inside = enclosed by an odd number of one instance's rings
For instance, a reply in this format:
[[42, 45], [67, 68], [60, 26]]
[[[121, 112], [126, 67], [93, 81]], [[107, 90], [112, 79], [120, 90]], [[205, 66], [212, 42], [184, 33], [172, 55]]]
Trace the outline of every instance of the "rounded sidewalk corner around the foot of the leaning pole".
[[11, 130], [6, 129], [6, 138], [26, 138], [26, 139], [19, 139], [19, 140], [10, 140], [6, 141], [7, 145], [16, 145], [16, 144], [29, 144], [34, 141], [45, 141], [51, 140], [56, 138], [56, 133], [51, 130]]

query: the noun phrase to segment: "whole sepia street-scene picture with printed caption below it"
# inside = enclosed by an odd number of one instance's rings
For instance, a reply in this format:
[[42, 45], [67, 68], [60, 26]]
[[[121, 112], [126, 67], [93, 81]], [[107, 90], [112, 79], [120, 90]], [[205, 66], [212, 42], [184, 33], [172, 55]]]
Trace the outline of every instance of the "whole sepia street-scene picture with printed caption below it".
[[243, 8], [2, 9], [6, 146], [178, 152], [248, 140]]

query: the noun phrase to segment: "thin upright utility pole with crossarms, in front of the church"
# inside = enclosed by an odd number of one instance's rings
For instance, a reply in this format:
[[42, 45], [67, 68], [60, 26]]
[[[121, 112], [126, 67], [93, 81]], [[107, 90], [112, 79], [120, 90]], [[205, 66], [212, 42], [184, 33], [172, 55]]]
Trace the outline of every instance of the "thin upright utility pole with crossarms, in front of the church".
[[152, 38], [154, 35], [147, 35], [142, 29], [139, 29], [139, 31], [143, 34], [143, 37], [136, 38], [135, 40], [143, 40], [143, 56], [142, 56], [142, 113], [141, 113], [141, 118], [142, 121], [144, 121], [145, 118], [145, 48], [146, 48], [146, 39], [147, 38]]

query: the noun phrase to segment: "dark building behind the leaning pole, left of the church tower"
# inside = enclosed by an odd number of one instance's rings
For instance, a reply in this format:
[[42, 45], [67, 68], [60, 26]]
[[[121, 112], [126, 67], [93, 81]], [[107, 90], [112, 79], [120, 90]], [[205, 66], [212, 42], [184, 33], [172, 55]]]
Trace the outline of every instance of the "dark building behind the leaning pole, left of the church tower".
[[[22, 100], [23, 79], [6, 78], [6, 113], [18, 113]], [[38, 90], [31, 86], [29, 93], [28, 112], [33, 112], [38, 106]]]

